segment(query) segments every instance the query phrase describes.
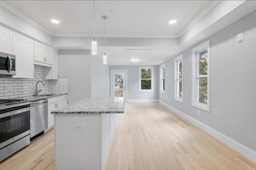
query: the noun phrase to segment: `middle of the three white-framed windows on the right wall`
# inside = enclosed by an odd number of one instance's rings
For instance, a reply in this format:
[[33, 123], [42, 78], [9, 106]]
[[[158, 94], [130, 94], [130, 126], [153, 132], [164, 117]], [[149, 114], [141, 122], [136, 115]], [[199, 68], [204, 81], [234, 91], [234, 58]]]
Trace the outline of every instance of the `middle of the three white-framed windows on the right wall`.
[[174, 99], [183, 102], [183, 55], [174, 59]]

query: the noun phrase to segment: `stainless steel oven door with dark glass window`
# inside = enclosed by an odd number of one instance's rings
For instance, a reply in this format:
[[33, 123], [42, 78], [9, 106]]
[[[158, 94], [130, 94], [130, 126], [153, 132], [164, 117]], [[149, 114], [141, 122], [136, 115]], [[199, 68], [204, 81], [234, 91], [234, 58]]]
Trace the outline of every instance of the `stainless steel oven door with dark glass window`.
[[30, 107], [0, 114], [0, 149], [30, 134]]

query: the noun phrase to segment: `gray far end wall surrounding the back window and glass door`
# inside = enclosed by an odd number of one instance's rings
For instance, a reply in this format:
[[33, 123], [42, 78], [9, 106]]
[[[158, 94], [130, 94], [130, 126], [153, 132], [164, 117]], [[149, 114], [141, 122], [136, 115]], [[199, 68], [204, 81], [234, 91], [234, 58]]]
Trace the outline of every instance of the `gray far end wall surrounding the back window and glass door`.
[[110, 66], [110, 70], [127, 70], [128, 100], [158, 99], [158, 66], [154, 66], [154, 92], [139, 92], [139, 66]]

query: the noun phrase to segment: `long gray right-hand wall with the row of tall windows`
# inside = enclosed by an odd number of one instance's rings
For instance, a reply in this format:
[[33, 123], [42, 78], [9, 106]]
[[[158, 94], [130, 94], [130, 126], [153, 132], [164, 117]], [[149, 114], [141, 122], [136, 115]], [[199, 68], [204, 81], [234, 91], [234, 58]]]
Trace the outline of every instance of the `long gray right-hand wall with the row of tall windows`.
[[[210, 112], [191, 106], [191, 50], [166, 61], [166, 94], [159, 98], [256, 150], [256, 12], [210, 36]], [[238, 43], [236, 35], [244, 33]], [[174, 100], [174, 58], [183, 54], [184, 103]], [[200, 110], [200, 115], [197, 111]]]

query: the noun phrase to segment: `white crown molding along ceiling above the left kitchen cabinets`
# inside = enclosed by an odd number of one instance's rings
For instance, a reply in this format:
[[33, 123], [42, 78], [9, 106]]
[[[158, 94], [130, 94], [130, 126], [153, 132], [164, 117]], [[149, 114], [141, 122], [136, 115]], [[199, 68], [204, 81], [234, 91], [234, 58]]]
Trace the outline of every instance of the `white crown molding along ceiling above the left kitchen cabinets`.
[[7, 2], [1, 0], [1, 1], [0, 1], [0, 6], [6, 8], [6, 9], [9, 10], [10, 12], [12, 12], [12, 13], [14, 13], [15, 15], [19, 16], [19, 17], [22, 18], [23, 20], [25, 20], [25, 21], [31, 23], [32, 25], [34, 25], [35, 27], [41, 29], [42, 31], [48, 33], [49, 35], [54, 36], [54, 33], [53, 33], [50, 29], [48, 29], [48, 28], [42, 26], [40, 23], [38, 23], [37, 21], [33, 20], [33, 19], [30, 18], [28, 15], [24, 14], [23, 12], [20, 12], [20, 11], [17, 10], [16, 8], [10, 6]]

